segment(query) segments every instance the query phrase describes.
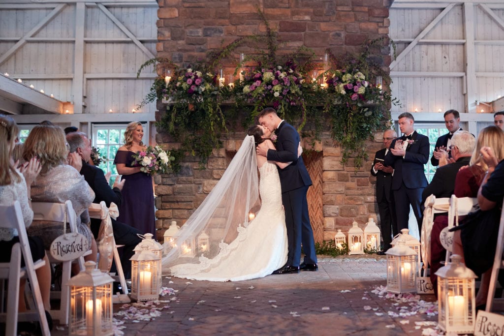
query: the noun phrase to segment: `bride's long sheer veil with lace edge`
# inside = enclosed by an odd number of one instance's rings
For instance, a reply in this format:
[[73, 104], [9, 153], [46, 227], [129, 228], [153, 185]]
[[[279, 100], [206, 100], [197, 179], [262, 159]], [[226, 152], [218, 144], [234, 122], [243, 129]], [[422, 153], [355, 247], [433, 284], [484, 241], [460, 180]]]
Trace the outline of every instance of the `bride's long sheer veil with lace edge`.
[[[212, 259], [233, 241], [260, 208], [254, 137], [246, 136], [221, 179], [180, 228], [163, 256], [163, 271]], [[203, 256], [203, 258], [202, 258]]]

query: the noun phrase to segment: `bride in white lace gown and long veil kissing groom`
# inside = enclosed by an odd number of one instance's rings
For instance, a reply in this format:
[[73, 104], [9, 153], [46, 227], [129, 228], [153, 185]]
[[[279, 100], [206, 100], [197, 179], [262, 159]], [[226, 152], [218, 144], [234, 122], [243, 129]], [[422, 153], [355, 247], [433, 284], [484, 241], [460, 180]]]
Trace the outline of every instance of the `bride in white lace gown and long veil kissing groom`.
[[277, 165], [283, 169], [290, 162], [256, 155], [262, 142], [275, 149], [267, 128], [255, 125], [247, 134], [217, 185], [171, 243], [162, 260], [164, 272], [191, 280], [242, 281], [270, 275], [287, 261]]

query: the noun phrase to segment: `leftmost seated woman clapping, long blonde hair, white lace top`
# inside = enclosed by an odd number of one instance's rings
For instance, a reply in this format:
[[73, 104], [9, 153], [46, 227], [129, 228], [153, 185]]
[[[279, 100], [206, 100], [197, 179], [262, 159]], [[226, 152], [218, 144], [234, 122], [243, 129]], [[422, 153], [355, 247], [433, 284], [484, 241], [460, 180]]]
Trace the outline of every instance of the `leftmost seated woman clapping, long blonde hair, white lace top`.
[[[23, 220], [28, 228], [32, 224], [33, 211], [30, 208], [30, 184], [40, 172], [40, 163], [32, 158], [22, 165], [20, 169], [14, 167], [12, 151], [15, 139], [19, 133], [16, 122], [5, 115], [0, 115], [0, 204], [12, 205], [16, 200], [21, 205]], [[12, 246], [19, 242], [18, 232], [11, 229], [0, 229], [0, 262], [9, 262], [11, 259]], [[51, 271], [49, 260], [45, 254], [42, 240], [39, 237], [28, 237], [32, 258], [34, 261], [45, 260], [45, 265], [37, 268], [36, 275], [40, 286], [40, 293], [44, 308], [50, 310], [49, 291], [51, 286]], [[24, 260], [21, 261], [24, 265]], [[25, 279], [21, 280], [19, 289], [19, 311], [26, 311], [24, 286]], [[48, 313], [47, 322], [52, 326], [52, 320]]]

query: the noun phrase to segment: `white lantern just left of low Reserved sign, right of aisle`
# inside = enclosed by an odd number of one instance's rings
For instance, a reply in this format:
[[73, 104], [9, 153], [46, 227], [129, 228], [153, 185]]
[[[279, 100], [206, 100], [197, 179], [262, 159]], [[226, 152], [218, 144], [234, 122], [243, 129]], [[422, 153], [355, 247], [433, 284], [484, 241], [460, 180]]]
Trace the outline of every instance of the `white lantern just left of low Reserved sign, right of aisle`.
[[387, 254], [387, 291], [416, 292], [416, 254], [403, 241], [385, 252]]

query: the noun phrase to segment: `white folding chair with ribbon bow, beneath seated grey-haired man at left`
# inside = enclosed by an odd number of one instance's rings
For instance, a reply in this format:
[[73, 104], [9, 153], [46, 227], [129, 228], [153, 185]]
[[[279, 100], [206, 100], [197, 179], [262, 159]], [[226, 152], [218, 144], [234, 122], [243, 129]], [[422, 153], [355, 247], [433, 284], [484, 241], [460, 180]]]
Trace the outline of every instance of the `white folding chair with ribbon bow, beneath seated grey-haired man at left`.
[[[117, 218], [119, 211], [117, 206], [114, 203], [110, 204], [110, 208], [107, 208], [104, 201], [101, 201], [100, 204], [93, 203], [89, 208], [89, 217], [101, 219], [101, 226], [99, 230], [99, 236], [96, 239], [98, 244], [98, 251], [100, 252], [100, 260], [98, 262], [98, 268], [102, 272], [108, 273], [110, 272], [111, 259], [113, 257], [115, 261], [115, 266], [117, 268], [117, 274], [119, 276], [119, 282], [122, 287], [122, 293], [124, 295], [128, 295], [128, 287], [126, 286], [126, 280], [124, 279], [124, 272], [122, 272], [122, 264], [119, 258], [119, 253], [117, 252], [117, 247], [121, 247], [122, 245], [116, 245], [115, 239], [112, 231], [112, 221], [110, 220], [111, 216], [114, 216], [114, 219]], [[107, 245], [110, 246], [107, 246]], [[109, 247], [112, 248], [113, 256], [109, 258], [109, 256], [105, 253], [108, 252]], [[109, 260], [110, 259], [110, 260]], [[123, 303], [125, 300], [129, 300], [128, 297], [121, 297], [120, 302]]]

